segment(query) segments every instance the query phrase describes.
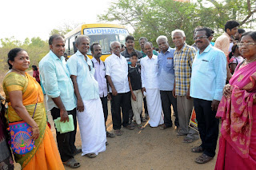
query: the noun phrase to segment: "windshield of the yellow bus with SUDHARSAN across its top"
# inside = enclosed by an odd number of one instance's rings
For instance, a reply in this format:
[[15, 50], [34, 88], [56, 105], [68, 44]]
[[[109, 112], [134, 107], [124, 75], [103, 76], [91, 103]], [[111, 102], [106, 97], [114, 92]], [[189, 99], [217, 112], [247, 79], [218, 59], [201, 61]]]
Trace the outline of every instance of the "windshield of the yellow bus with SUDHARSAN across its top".
[[[83, 34], [90, 38], [90, 45], [98, 42], [102, 46], [102, 54], [110, 54], [110, 43], [117, 41], [125, 44], [129, 33], [126, 29], [90, 28], [84, 29]], [[91, 55], [91, 52], [89, 51], [88, 54]]]

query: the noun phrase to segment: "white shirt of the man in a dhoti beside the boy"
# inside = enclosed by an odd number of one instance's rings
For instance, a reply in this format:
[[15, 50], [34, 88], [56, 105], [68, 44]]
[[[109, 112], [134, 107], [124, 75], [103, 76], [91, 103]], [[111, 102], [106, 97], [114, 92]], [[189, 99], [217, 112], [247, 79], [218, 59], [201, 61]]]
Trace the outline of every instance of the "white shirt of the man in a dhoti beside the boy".
[[146, 89], [158, 89], [158, 56], [153, 55], [151, 59], [146, 56], [141, 59], [142, 87]]

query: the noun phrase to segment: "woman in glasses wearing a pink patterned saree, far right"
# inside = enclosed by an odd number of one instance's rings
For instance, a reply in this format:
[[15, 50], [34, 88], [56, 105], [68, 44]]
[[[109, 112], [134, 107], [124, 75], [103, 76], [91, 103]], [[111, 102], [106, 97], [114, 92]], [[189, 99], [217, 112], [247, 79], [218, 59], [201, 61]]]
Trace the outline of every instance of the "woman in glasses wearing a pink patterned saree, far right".
[[242, 57], [230, 85], [224, 87], [216, 117], [222, 119], [215, 169], [256, 167], [256, 32], [242, 34]]

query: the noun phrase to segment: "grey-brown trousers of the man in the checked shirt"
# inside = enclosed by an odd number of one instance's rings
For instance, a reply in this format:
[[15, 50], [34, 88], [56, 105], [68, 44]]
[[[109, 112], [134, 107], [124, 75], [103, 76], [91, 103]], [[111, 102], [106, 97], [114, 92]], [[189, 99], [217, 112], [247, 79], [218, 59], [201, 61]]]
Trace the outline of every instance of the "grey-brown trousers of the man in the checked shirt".
[[191, 139], [198, 139], [198, 132], [190, 128], [190, 117], [193, 109], [193, 99], [186, 96], [177, 96], [178, 123], [180, 132], [186, 134]]

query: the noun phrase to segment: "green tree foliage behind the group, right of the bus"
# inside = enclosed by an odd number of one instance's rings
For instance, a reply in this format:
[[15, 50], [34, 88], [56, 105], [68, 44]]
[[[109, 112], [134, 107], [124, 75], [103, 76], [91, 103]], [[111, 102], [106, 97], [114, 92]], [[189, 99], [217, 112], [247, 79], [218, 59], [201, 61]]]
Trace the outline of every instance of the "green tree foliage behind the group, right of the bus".
[[134, 38], [146, 37], [154, 45], [159, 35], [171, 40], [172, 30], [184, 30], [186, 42], [193, 44], [196, 26], [208, 26], [218, 35], [222, 34], [227, 20], [238, 20], [242, 27], [254, 22], [255, 4], [256, 0], [119, 0], [112, 2], [106, 14], [98, 15], [98, 19], [132, 26]]

